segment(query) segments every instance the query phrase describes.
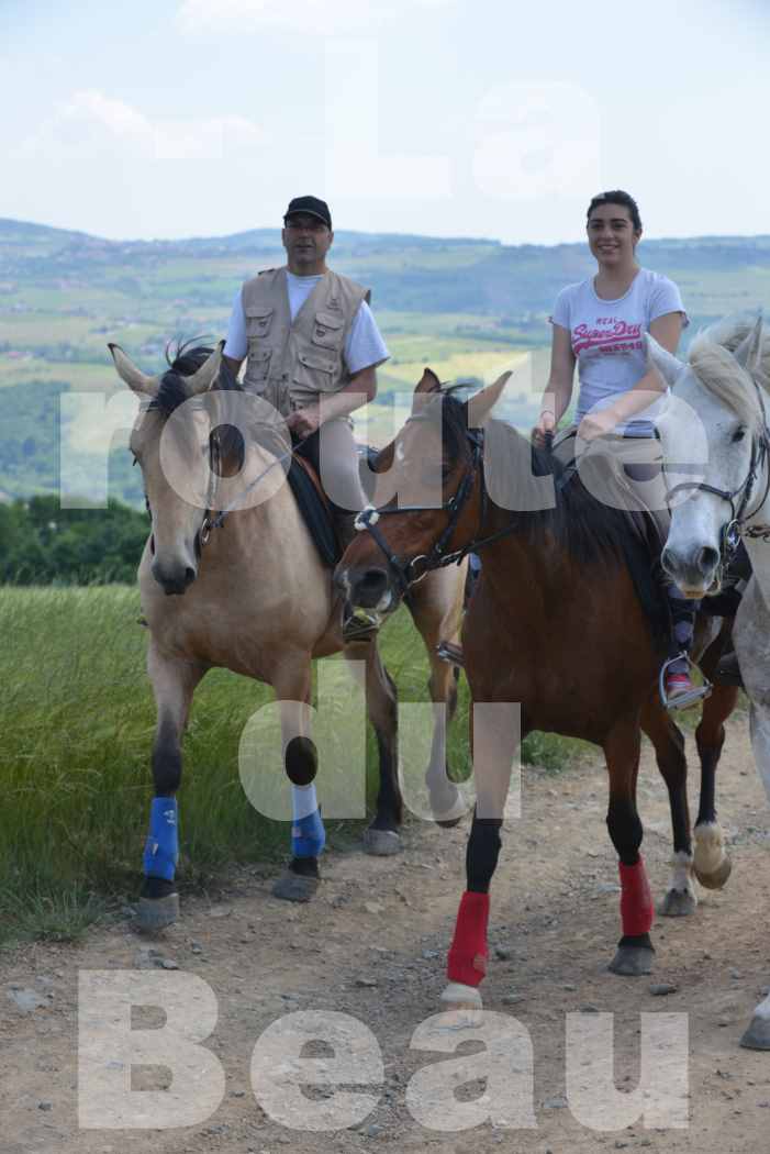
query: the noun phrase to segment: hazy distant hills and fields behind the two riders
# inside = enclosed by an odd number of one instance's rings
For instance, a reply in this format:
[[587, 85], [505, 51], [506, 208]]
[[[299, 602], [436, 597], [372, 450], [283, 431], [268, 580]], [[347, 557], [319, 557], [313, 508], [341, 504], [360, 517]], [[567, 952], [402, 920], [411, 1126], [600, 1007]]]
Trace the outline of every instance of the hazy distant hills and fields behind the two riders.
[[[544, 349], [557, 292], [594, 269], [584, 243], [507, 246], [344, 230], [332, 254], [335, 269], [373, 290], [393, 354], [379, 373], [386, 402], [410, 389], [425, 364], [444, 379], [489, 379], [518, 353]], [[694, 322], [685, 346], [725, 313], [770, 308], [770, 237], [644, 240], [640, 256], [679, 284]], [[107, 340], [158, 372], [173, 337], [224, 335], [239, 285], [282, 258], [272, 228], [111, 241], [0, 219], [0, 490], [23, 496], [55, 487], [58, 398], [118, 387]], [[536, 364], [511, 399], [511, 417], [522, 424], [536, 405], [546, 358]], [[84, 477], [97, 433], [78, 421], [65, 429], [83, 452]], [[116, 451], [111, 478], [115, 495], [138, 499], [126, 454]]]

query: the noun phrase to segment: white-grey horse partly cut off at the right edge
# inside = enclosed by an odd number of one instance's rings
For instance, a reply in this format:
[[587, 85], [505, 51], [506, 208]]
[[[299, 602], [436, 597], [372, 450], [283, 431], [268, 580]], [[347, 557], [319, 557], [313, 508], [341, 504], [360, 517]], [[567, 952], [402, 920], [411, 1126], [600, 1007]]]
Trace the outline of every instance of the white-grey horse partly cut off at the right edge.
[[[672, 503], [663, 564], [690, 597], [718, 595], [739, 534], [745, 542], [753, 575], [733, 637], [770, 797], [770, 334], [761, 315], [729, 316], [696, 337], [687, 362], [648, 339], [671, 385], [658, 424]], [[770, 996], [755, 1007], [741, 1046], [770, 1050]]]

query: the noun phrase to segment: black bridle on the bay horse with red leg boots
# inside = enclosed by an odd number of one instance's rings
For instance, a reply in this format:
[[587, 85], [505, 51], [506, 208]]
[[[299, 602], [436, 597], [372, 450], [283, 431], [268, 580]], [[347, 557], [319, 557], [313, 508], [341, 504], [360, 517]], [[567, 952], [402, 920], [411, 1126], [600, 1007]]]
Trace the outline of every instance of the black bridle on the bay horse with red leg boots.
[[[407, 420], [407, 425], [410, 421], [417, 420], [426, 420], [426, 418], [410, 417]], [[462, 516], [462, 511], [470, 499], [477, 477], [481, 482], [481, 509], [478, 517], [480, 533], [486, 519], [489, 497], [486, 493], [486, 485], [484, 484], [484, 433], [483, 429], [466, 429], [465, 432], [466, 439], [470, 444], [470, 462], [460, 480], [460, 484], [458, 485], [458, 488], [447, 501], [444, 501], [440, 505], [388, 504], [380, 505], [379, 508], [376, 508], [375, 505], [367, 505], [367, 508], [362, 509], [355, 519], [355, 529], [358, 532], [370, 533], [380, 553], [385, 557], [387, 567], [395, 578], [401, 597], [408, 593], [413, 585], [416, 585], [417, 582], [421, 582], [423, 577], [425, 577], [429, 572], [432, 572], [435, 569], [444, 569], [447, 565], [460, 564], [460, 562], [467, 557], [469, 553], [477, 553], [480, 549], [484, 548], [484, 546], [491, 545], [492, 541], [497, 541], [499, 538], [507, 537], [509, 533], [515, 532], [518, 527], [516, 522], [512, 520], [496, 533], [491, 533], [488, 537], [475, 537], [471, 541], [461, 546], [459, 549], [452, 549], [448, 553], [446, 552], [447, 546], [452, 540], [452, 535], [458, 526], [458, 522]], [[446, 526], [443, 529], [438, 539], [433, 542], [428, 553], [420, 553], [417, 556], [412, 557], [410, 561], [403, 561], [398, 557], [378, 529], [380, 517], [410, 512], [437, 512], [440, 510], [448, 514]]]

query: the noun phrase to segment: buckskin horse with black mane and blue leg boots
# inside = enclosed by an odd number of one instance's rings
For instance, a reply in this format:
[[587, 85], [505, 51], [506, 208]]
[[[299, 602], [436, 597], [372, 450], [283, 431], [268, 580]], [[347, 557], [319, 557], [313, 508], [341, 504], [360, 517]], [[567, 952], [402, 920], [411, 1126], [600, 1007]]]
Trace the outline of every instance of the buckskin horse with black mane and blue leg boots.
[[[273, 889], [277, 897], [305, 901], [312, 896], [325, 841], [310, 740], [314, 658], [342, 650], [356, 669], [364, 670], [367, 711], [379, 749], [376, 814], [364, 833], [364, 848], [378, 855], [400, 848], [403, 799], [394, 682], [376, 640], [344, 645], [332, 570], [322, 563], [285, 484], [285, 471], [275, 467], [290, 454], [281, 454], [287, 443], [271, 424], [271, 414], [286, 437], [285, 426], [272, 411], [264, 425], [249, 425], [251, 410], [237, 403], [255, 398], [235, 382], [221, 349], [221, 344], [213, 351], [180, 349], [167, 372], [148, 376], [118, 345], [110, 345], [119, 376], [141, 402], [129, 448], [142, 470], [151, 517], [138, 569], [150, 631], [148, 673], [157, 704], [154, 800], [138, 909], [139, 927], [150, 930], [171, 924], [179, 913], [176, 792], [182, 735], [195, 689], [214, 667], [266, 682], [278, 698], [294, 817], [292, 859]], [[270, 406], [261, 404], [264, 414]], [[386, 467], [387, 450], [383, 458]], [[409, 608], [429, 653], [436, 703], [426, 773], [432, 814], [454, 824], [465, 804], [446, 770], [443, 709], [451, 718], [456, 687], [436, 646], [443, 637], [459, 634], [465, 575], [436, 576], [415, 591]]]

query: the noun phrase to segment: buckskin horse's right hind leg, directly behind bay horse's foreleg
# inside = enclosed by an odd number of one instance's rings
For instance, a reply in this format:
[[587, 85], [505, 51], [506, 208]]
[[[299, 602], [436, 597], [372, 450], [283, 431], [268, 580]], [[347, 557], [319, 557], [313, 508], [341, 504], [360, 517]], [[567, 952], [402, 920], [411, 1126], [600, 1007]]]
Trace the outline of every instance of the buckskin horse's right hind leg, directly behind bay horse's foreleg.
[[462, 616], [465, 567], [430, 574], [409, 593], [409, 610], [430, 661], [428, 688], [433, 702], [433, 740], [425, 786], [431, 814], [439, 825], [456, 825], [468, 805], [450, 777], [446, 733], [458, 705], [458, 669], [437, 654], [439, 642], [455, 642]]

